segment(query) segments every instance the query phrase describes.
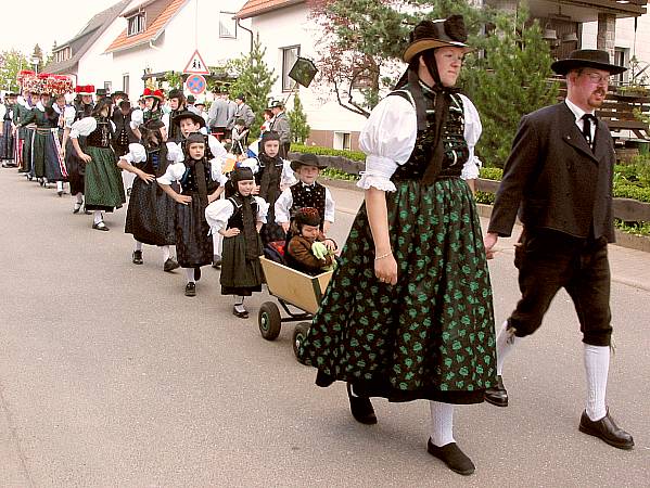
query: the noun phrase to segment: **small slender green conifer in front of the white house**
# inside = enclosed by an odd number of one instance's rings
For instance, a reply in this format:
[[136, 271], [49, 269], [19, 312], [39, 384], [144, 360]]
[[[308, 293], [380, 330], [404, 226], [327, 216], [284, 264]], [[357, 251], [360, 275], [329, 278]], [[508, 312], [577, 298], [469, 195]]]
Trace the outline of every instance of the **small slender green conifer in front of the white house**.
[[254, 138], [259, 136], [259, 128], [264, 123], [263, 113], [268, 106], [271, 88], [278, 79], [273, 69], [264, 62], [265, 54], [266, 48], [262, 47], [258, 35], [251, 52], [230, 61], [227, 66], [228, 73], [234, 73], [237, 77], [229, 87], [231, 98], [243, 93], [255, 114], [255, 121], [251, 126], [251, 136]]

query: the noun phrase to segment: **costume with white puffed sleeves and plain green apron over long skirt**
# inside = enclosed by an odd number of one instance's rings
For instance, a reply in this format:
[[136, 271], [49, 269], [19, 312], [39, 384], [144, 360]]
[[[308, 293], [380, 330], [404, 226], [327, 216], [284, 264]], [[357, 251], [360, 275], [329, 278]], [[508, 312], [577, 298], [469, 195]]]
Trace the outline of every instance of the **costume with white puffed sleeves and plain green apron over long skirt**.
[[[126, 203], [120, 169], [111, 146], [113, 123], [106, 117], [86, 117], [73, 124], [69, 137], [86, 137], [86, 154], [92, 157], [85, 167], [86, 209], [113, 211]], [[98, 223], [95, 221], [95, 223]]]

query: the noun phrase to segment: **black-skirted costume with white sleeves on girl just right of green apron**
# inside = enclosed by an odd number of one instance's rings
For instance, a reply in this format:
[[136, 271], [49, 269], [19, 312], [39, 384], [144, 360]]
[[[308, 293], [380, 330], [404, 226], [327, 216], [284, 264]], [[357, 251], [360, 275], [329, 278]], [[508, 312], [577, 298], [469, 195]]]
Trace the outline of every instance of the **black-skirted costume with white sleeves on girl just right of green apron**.
[[[123, 159], [156, 178], [165, 175], [169, 164], [183, 160], [182, 151], [174, 142], [153, 147], [133, 143], [129, 144], [128, 149], [129, 152], [123, 156]], [[125, 232], [133, 234], [133, 239], [143, 244], [174, 245], [176, 242], [175, 207], [174, 200], [155, 181], [146, 183], [136, 178], [126, 214]]]

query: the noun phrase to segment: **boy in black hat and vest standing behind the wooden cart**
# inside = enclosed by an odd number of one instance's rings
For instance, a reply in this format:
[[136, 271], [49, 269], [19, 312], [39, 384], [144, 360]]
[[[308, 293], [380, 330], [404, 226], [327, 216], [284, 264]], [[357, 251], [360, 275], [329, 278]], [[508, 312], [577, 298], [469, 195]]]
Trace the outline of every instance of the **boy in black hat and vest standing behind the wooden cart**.
[[334, 200], [332, 193], [320, 184], [320, 170], [327, 168], [315, 154], [301, 154], [291, 162], [291, 169], [298, 182], [285, 189], [276, 202], [276, 223], [289, 232], [293, 216], [303, 207], [314, 207], [318, 210], [320, 222], [318, 227], [327, 235], [330, 226], [334, 223]]

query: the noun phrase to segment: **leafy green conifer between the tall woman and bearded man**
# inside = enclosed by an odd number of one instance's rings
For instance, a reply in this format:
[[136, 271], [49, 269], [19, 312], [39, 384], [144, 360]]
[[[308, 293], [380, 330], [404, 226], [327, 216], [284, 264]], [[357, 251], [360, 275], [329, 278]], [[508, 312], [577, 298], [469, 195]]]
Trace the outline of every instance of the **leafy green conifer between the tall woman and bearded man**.
[[485, 55], [468, 59], [461, 86], [483, 123], [479, 156], [487, 166], [502, 167], [521, 117], [556, 103], [558, 84], [549, 81], [550, 50], [526, 11], [498, 15], [494, 25], [476, 44]]

